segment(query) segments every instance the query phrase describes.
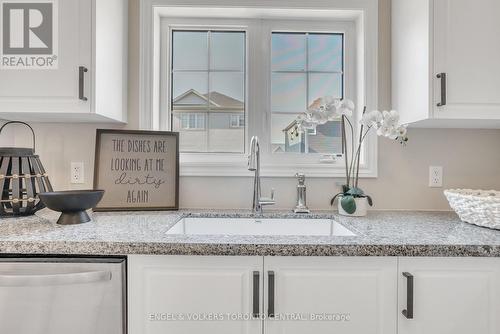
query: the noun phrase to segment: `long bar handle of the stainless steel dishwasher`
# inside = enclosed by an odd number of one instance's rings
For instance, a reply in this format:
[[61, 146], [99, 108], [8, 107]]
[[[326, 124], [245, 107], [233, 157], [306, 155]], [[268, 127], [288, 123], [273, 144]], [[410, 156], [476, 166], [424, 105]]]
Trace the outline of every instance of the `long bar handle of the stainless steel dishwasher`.
[[106, 282], [111, 280], [110, 271], [89, 271], [51, 275], [0, 275], [0, 287], [55, 286]]

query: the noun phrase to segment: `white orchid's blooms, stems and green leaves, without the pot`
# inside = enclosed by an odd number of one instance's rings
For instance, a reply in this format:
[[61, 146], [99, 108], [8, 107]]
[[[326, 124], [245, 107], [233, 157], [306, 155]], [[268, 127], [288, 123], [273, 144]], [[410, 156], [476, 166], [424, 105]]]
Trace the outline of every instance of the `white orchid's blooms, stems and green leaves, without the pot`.
[[[359, 140], [356, 143], [356, 133], [353, 126], [352, 115], [355, 106], [351, 100], [336, 99], [332, 96], [325, 96], [316, 99], [304, 114], [297, 118], [297, 131], [303, 133], [305, 130], [316, 128], [320, 124], [329, 121], [341, 120], [342, 127], [342, 153], [344, 154], [346, 183], [342, 186], [342, 192], [335, 195], [331, 204], [333, 205], [337, 197], [340, 197], [342, 208], [349, 214], [356, 211], [356, 198], [366, 198], [370, 206], [373, 200], [358, 187], [359, 163], [363, 141], [372, 129], [377, 131], [377, 135], [398, 141], [405, 145], [408, 142], [406, 125], [399, 123], [399, 113], [391, 111], [366, 111], [360, 120]], [[347, 131], [351, 134], [351, 147], [348, 149]], [[349, 154], [350, 153], [350, 154]], [[350, 155], [350, 157], [349, 157]]]

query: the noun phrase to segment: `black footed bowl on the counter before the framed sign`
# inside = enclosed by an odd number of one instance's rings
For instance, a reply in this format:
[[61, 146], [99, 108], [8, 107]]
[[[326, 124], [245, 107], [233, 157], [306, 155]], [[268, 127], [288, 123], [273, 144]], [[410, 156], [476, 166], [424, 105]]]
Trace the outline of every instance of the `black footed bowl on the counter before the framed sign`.
[[38, 194], [46, 207], [61, 212], [57, 221], [61, 225], [89, 222], [90, 217], [86, 210], [95, 207], [103, 195], [104, 190], [71, 190]]

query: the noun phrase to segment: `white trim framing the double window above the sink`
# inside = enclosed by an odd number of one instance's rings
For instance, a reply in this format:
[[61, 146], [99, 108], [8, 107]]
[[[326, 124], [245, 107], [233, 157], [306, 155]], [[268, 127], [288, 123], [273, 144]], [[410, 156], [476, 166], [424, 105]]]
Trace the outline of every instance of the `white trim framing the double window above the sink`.
[[[189, 16], [203, 17], [218, 15], [221, 18], [259, 17], [259, 15], [284, 15], [286, 19], [322, 19], [335, 18], [341, 21], [355, 22], [357, 38], [356, 73], [360, 80], [356, 91], [357, 105], [367, 104], [368, 109], [378, 106], [378, 4], [373, 0], [312, 0], [308, 2], [309, 9], [303, 8], [303, 3], [290, 3], [286, 0], [269, 0], [256, 7], [252, 0], [240, 0], [236, 4], [229, 0], [208, 0], [203, 7], [196, 0], [144, 0], [141, 2], [140, 25], [140, 127], [159, 129], [159, 73], [160, 68], [160, 25], [163, 16], [178, 16], [183, 11]], [[226, 14], [221, 8], [228, 10]], [[201, 9], [201, 10], [200, 10]], [[343, 11], [340, 11], [343, 10]], [[235, 14], [236, 13], [236, 14]], [[250, 13], [250, 14], [249, 14]], [[253, 15], [253, 16], [252, 16]], [[182, 15], [181, 15], [182, 16]], [[211, 27], [212, 28], [212, 27]], [[156, 69], [156, 70], [155, 70]], [[157, 71], [160, 69], [160, 71]], [[366, 69], [366, 71], [364, 70]], [[250, 71], [247, 70], [250, 75]], [[247, 85], [247, 89], [253, 87]], [[265, 86], [265, 84], [263, 85]], [[250, 98], [248, 99], [250, 100]], [[266, 98], [268, 101], [269, 99]], [[253, 106], [258, 107], [258, 106]], [[249, 110], [249, 109], [247, 109]], [[261, 115], [259, 115], [261, 116]], [[259, 117], [255, 116], [255, 117]], [[249, 114], [246, 127], [256, 126], [255, 120]], [[264, 132], [264, 129], [257, 129]], [[261, 136], [262, 137], [262, 136]], [[247, 139], [248, 140], [248, 139]], [[262, 142], [270, 143], [263, 138]], [[371, 134], [366, 142], [364, 161], [360, 168], [361, 177], [377, 176], [377, 138]], [[268, 150], [269, 151], [269, 150]], [[288, 155], [288, 154], [287, 154]], [[293, 156], [293, 154], [290, 154]], [[312, 177], [343, 177], [344, 169], [341, 160], [331, 164], [302, 161], [299, 159], [280, 159], [271, 161], [266, 154], [263, 156], [262, 174], [264, 176], [290, 177], [294, 171], [301, 170]], [[286, 161], [285, 161], [286, 160]], [[328, 160], [324, 159], [323, 161]], [[329, 161], [334, 161], [330, 159]], [[251, 176], [246, 169], [245, 154], [183, 154], [181, 156], [181, 175], [192, 176]]]

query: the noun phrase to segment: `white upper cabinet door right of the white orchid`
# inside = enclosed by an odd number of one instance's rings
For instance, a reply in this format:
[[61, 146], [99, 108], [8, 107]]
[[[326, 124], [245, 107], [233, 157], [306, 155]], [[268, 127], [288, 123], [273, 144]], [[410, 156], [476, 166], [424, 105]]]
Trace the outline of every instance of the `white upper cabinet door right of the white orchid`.
[[498, 0], [434, 1], [434, 117], [500, 119], [499, 13]]

